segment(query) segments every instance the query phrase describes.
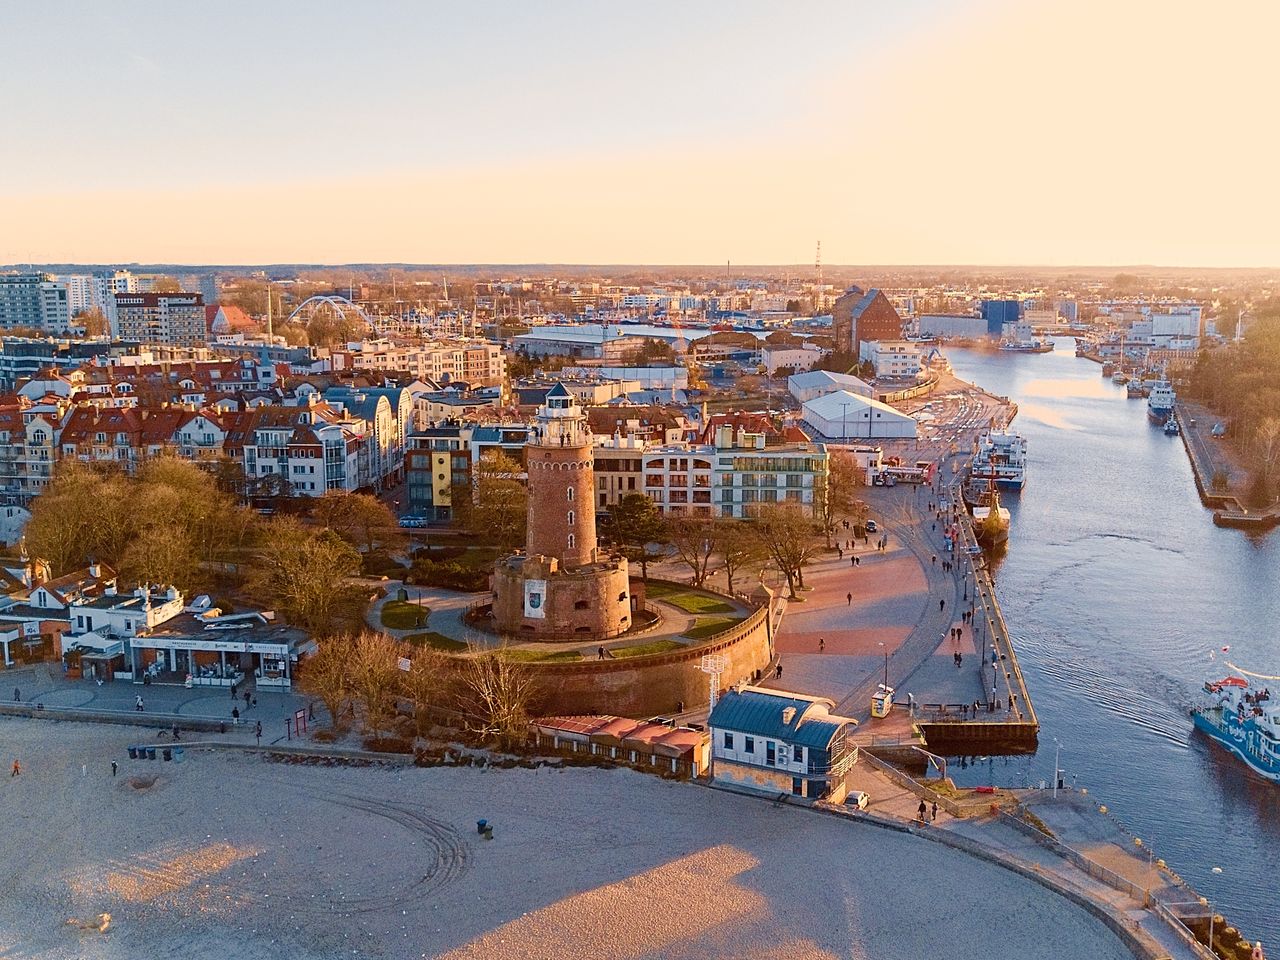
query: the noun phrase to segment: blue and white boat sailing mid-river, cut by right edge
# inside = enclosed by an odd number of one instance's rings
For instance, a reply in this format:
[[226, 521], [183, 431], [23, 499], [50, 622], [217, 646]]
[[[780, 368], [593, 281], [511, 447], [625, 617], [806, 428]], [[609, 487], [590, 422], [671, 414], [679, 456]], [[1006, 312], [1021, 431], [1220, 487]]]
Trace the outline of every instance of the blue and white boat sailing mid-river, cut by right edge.
[[1249, 673], [1234, 663], [1226, 666], [1234, 673], [1204, 682], [1203, 701], [1192, 709], [1196, 728], [1260, 777], [1280, 783], [1280, 700], [1272, 699], [1266, 686], [1267, 681], [1280, 682], [1280, 677]]

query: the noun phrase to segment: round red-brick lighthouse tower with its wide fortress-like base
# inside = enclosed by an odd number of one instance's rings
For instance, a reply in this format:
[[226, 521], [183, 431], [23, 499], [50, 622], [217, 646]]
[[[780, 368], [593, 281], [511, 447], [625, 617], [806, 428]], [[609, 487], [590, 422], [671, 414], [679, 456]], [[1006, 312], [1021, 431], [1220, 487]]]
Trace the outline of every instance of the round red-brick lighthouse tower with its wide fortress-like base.
[[494, 568], [494, 622], [513, 639], [602, 640], [631, 626], [627, 562], [596, 547], [591, 447], [581, 407], [556, 384], [525, 445], [526, 549]]

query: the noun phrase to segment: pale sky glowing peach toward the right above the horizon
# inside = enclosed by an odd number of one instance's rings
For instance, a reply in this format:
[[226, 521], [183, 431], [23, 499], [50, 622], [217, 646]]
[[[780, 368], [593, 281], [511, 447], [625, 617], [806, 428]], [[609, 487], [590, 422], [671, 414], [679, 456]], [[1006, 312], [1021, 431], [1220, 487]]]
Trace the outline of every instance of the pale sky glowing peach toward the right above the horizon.
[[0, 262], [1280, 266], [1280, 4], [12, 4]]

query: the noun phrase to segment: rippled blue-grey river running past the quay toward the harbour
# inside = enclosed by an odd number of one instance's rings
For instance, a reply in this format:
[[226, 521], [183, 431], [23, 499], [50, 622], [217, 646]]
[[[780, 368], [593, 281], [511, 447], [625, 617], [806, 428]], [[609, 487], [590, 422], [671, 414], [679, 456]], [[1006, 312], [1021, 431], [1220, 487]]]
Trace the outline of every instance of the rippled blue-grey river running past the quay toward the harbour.
[[[1280, 951], [1280, 786], [1192, 730], [1224, 659], [1280, 673], [1280, 530], [1213, 526], [1183, 443], [1101, 367], [1053, 353], [948, 349], [955, 371], [1012, 398], [1028, 479], [1006, 498], [996, 589], [1041, 721], [1034, 758], [956, 769], [961, 783], [1088, 787], [1202, 896]], [[1222, 646], [1230, 646], [1222, 654]], [[1212, 654], [1212, 658], [1211, 658]], [[1221, 868], [1215, 873], [1213, 868]]]

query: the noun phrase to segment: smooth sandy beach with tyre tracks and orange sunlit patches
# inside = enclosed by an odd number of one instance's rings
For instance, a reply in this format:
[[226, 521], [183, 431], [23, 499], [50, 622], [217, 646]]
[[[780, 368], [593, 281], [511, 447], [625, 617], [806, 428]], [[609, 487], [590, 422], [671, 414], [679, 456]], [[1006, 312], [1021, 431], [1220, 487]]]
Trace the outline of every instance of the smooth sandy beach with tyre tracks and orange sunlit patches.
[[0, 956], [1129, 956], [992, 864], [700, 786], [238, 751], [131, 762], [138, 739], [0, 719], [5, 767], [23, 764], [0, 783]]

